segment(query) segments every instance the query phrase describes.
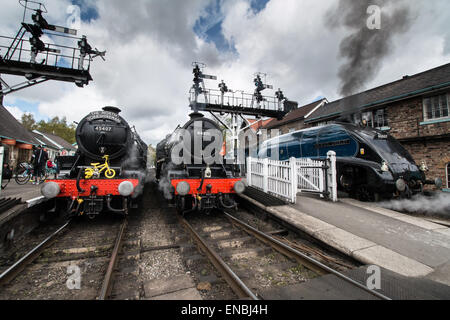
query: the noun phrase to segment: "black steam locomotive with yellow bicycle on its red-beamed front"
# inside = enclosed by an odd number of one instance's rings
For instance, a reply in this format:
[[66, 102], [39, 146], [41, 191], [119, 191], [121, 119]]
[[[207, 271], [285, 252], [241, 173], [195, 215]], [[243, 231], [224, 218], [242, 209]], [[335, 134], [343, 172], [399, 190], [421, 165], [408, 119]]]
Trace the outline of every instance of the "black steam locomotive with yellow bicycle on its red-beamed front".
[[[48, 180], [42, 194], [55, 209], [95, 217], [102, 211], [128, 214], [136, 207], [147, 171], [147, 145], [119, 115], [105, 107], [78, 124], [78, 151], [57, 157], [58, 179]], [[61, 208], [62, 207], [62, 208]]]

